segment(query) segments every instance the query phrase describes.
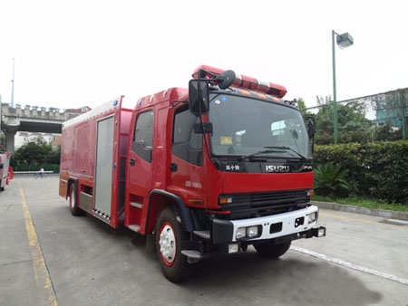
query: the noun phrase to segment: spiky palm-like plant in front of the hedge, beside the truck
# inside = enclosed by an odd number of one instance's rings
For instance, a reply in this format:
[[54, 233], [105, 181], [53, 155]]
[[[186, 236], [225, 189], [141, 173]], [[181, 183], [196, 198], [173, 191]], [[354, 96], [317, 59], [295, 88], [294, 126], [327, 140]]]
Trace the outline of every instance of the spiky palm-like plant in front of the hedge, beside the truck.
[[350, 189], [347, 182], [348, 169], [332, 162], [319, 165], [315, 168], [315, 189], [322, 196], [344, 196]]

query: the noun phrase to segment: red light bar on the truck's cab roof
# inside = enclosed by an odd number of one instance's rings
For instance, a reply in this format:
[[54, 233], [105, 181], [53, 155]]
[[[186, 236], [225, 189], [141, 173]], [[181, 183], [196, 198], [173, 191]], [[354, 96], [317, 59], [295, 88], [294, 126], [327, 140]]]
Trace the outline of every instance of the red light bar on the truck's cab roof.
[[269, 81], [258, 81], [257, 79], [248, 77], [247, 75], [236, 74], [231, 71], [226, 72], [222, 69], [207, 65], [201, 65], [196, 68], [192, 74], [192, 77], [194, 79], [215, 79], [215, 81], [219, 81], [217, 80], [217, 77], [225, 74], [228, 74], [228, 77], [235, 76], [235, 80], [232, 81], [230, 87], [263, 92], [277, 98], [283, 98], [287, 94], [287, 89], [282, 85], [277, 85]]

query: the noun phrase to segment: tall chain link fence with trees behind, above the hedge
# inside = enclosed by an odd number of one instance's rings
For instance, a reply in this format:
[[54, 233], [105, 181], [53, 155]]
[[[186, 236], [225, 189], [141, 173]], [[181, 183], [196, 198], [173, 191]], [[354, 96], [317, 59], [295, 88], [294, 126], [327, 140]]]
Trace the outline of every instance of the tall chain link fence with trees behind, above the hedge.
[[[317, 98], [307, 108], [316, 124], [316, 144], [334, 143], [333, 101]], [[408, 88], [337, 101], [339, 143], [407, 139]]]

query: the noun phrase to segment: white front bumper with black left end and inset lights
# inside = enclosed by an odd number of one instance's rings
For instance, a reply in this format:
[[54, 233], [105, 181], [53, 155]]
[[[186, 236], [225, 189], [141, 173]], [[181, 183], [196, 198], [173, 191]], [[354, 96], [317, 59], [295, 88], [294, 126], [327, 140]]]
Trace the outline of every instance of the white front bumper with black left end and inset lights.
[[[309, 217], [313, 216], [313, 217]], [[255, 242], [257, 240], [274, 239], [293, 234], [311, 233], [311, 236], [325, 235], [325, 230], [314, 228], [318, 218], [318, 207], [308, 206], [293, 212], [279, 215], [267, 215], [257, 218], [241, 220], [212, 221], [210, 240], [213, 244], [231, 242]], [[238, 231], [242, 228], [257, 227], [257, 235], [252, 237], [238, 238]], [[306, 234], [306, 237], [309, 234]]]

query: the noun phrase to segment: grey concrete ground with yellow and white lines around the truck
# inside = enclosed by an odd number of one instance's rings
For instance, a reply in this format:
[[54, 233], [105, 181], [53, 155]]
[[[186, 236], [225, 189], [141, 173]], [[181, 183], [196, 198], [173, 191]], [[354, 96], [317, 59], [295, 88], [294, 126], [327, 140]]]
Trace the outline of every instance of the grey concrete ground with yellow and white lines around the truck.
[[167, 281], [145, 239], [73, 217], [58, 177], [15, 177], [0, 193], [0, 305], [408, 305], [408, 222], [321, 208], [322, 238], [278, 260], [246, 253]]

